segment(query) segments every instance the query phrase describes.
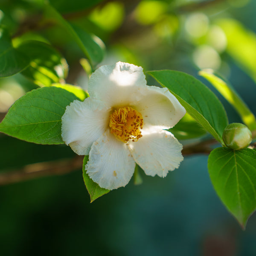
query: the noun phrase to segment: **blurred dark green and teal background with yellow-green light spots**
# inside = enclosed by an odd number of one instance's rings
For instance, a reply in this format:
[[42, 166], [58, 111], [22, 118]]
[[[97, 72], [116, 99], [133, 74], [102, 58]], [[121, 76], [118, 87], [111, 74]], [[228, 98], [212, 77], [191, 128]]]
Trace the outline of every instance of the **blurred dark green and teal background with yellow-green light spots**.
[[[144, 70], [172, 69], [205, 84], [198, 71], [227, 78], [256, 113], [254, 0], [50, 0], [64, 17], [105, 43], [102, 64], [125, 61]], [[0, 24], [17, 41], [50, 42], [69, 65], [67, 83], [87, 88], [84, 55], [59, 28], [25, 29], [43, 0], [1, 0]], [[86, 70], [86, 68], [85, 68]], [[149, 85], [156, 82], [147, 76]], [[233, 108], [209, 84], [227, 110]], [[0, 79], [0, 112], [38, 85], [18, 74]], [[195, 139], [196, 140], [196, 139]], [[187, 141], [182, 141], [186, 144]], [[0, 172], [30, 163], [72, 158], [65, 145], [36, 145], [0, 134]], [[90, 204], [81, 169], [0, 186], [0, 254], [61, 256], [255, 256], [256, 215], [242, 231], [221, 204], [207, 172], [207, 156], [186, 156], [166, 178], [133, 181]]]

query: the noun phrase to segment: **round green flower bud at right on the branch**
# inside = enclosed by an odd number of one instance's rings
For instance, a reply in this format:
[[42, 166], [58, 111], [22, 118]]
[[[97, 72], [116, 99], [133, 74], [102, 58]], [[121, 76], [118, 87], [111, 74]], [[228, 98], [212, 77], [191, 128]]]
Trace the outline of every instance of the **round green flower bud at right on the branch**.
[[224, 129], [222, 138], [228, 148], [240, 150], [250, 145], [252, 133], [247, 126], [240, 123], [232, 123]]

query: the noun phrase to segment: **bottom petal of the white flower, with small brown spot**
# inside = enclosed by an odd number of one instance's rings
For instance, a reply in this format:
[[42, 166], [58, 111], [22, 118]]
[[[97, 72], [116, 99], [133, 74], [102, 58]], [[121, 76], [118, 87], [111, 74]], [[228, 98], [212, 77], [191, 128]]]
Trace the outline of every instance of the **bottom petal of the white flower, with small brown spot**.
[[93, 143], [85, 169], [100, 187], [117, 189], [131, 180], [135, 162], [128, 146], [117, 140], [108, 129]]

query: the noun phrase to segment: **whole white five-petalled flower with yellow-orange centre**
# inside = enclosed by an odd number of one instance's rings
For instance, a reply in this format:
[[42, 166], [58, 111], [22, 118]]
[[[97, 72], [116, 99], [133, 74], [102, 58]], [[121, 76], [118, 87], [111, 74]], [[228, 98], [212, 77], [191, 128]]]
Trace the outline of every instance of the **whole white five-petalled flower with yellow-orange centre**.
[[179, 167], [182, 145], [163, 129], [186, 111], [167, 88], [147, 86], [142, 67], [99, 67], [88, 93], [84, 102], [67, 106], [61, 135], [77, 154], [89, 154], [85, 169], [100, 187], [125, 186], [136, 163], [146, 175], [160, 177]]

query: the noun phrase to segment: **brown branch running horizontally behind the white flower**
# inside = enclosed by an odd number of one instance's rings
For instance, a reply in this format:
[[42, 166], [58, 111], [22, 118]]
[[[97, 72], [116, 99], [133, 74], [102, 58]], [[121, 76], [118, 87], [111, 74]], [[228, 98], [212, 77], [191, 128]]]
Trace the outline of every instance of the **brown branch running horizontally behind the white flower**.
[[[185, 145], [182, 154], [209, 154], [212, 150], [210, 145], [214, 143], [217, 143], [216, 140], [211, 139], [198, 144]], [[76, 156], [73, 159], [32, 163], [21, 169], [0, 172], [0, 186], [45, 176], [64, 175], [76, 170], [81, 170], [83, 158], [84, 156]]]

